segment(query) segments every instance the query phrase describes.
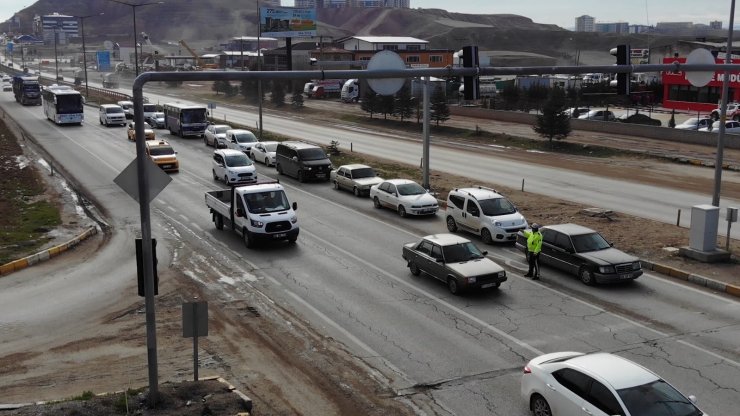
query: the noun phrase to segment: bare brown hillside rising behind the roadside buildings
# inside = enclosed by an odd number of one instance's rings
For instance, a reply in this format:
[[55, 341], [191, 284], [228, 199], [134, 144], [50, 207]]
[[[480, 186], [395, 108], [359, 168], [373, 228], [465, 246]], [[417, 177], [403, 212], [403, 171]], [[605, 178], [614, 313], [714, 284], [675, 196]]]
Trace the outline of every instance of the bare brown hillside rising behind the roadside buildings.
[[[18, 12], [22, 31], [29, 33], [37, 14], [58, 12], [95, 15], [85, 20], [87, 41], [132, 42], [132, 8], [104, 0], [38, 0]], [[511, 14], [470, 15], [441, 9], [319, 9], [319, 35], [326, 42], [351, 35], [412, 36], [430, 42], [432, 48], [457, 50], [478, 45], [481, 50], [505, 51], [501, 56], [526, 53], [524, 60], [502, 59], [496, 65], [608, 64], [609, 49], [619, 43], [633, 47], [664, 45], [674, 38], [643, 35], [571, 32], [555, 25], [539, 24]], [[0, 23], [8, 27], [8, 22]], [[257, 1], [168, 0], [162, 5], [136, 8], [138, 32], [154, 43], [186, 40], [199, 50], [212, 50], [233, 36], [257, 35]], [[542, 59], [540, 59], [540, 57]]]

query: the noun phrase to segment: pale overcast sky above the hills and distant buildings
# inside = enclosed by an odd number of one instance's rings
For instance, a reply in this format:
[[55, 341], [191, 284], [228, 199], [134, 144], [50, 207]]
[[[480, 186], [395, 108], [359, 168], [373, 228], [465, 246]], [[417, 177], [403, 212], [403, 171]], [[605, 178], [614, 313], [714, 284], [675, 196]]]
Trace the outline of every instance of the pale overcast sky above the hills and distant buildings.
[[[130, 2], [135, 4], [143, 1]], [[172, 4], [179, 1], [165, 0]], [[33, 0], [0, 0], [0, 21], [9, 19], [15, 12], [34, 3]], [[293, 1], [283, 0], [282, 3], [292, 6]], [[537, 23], [556, 24], [563, 28], [572, 28], [575, 18], [584, 14], [594, 17], [597, 22], [619, 21], [641, 25], [654, 25], [657, 22], [709, 24], [712, 20], [720, 20], [723, 27], [727, 28], [730, 23], [730, 3], [731, 0], [411, 0], [411, 7], [471, 14], [518, 14]], [[0, 31], [6, 30], [0, 28]]]

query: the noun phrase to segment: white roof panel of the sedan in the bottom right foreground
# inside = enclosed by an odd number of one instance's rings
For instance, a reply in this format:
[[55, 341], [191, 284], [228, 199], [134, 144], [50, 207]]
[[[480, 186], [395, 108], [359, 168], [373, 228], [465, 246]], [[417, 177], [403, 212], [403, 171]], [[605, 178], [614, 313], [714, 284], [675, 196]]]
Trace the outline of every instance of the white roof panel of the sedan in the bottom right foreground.
[[569, 367], [582, 370], [584, 373], [598, 376], [615, 390], [641, 386], [660, 379], [647, 368], [626, 358], [606, 352], [579, 355], [566, 360], [565, 363]]

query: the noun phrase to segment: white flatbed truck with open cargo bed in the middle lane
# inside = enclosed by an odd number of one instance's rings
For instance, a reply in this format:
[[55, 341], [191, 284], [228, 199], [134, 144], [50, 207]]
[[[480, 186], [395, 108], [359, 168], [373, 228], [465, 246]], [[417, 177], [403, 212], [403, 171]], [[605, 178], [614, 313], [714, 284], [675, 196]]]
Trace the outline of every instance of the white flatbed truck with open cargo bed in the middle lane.
[[205, 201], [216, 229], [234, 230], [247, 248], [259, 242], [298, 239], [298, 204], [290, 204], [277, 181], [206, 191]]

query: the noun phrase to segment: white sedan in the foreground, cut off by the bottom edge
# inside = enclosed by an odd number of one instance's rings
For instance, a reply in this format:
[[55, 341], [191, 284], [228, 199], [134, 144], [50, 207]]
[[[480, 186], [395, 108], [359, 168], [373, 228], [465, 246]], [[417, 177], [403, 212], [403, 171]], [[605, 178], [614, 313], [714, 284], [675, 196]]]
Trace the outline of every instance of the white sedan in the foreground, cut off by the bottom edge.
[[535, 416], [706, 416], [693, 396], [609, 353], [536, 357], [524, 367], [521, 391]]

